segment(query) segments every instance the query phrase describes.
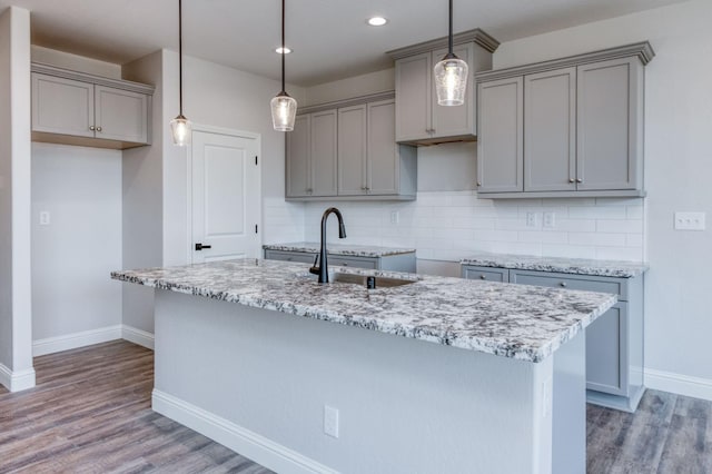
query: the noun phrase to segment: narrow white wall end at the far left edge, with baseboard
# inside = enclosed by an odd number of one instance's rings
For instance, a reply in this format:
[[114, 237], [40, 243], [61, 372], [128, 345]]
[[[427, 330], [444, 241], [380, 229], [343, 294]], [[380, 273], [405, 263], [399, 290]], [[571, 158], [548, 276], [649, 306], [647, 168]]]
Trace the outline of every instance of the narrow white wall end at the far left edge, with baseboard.
[[34, 386], [30, 259], [30, 12], [0, 16], [0, 384]]

